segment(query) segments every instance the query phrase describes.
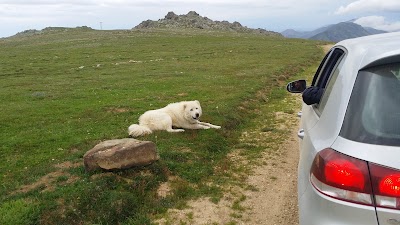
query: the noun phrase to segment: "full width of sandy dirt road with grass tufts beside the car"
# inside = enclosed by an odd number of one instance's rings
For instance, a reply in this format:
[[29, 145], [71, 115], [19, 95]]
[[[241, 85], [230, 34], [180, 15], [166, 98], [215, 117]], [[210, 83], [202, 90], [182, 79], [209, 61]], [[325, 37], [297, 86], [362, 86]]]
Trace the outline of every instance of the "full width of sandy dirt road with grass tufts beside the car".
[[[299, 104], [300, 98], [285, 99], [285, 104]], [[252, 130], [243, 132], [241, 142], [265, 149], [262, 157], [246, 160], [244, 149], [236, 149], [228, 158], [236, 167], [246, 168], [234, 176], [244, 182], [224, 187], [224, 197], [217, 203], [208, 198], [190, 201], [183, 210], [171, 209], [154, 221], [158, 224], [263, 224], [298, 225], [297, 163], [299, 118], [297, 112], [275, 113], [273, 128], [265, 130], [262, 118]], [[271, 137], [284, 134], [280, 146], [272, 146]], [[242, 179], [241, 179], [242, 178]], [[165, 188], [165, 186], [162, 186]], [[165, 190], [165, 189], [164, 189]]]

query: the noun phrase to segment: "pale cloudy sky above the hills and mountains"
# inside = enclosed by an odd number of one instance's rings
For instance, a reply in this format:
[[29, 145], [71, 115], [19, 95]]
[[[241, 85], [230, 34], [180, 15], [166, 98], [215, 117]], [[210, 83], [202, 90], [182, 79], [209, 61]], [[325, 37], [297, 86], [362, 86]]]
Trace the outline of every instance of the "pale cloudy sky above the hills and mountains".
[[0, 37], [46, 27], [132, 29], [170, 11], [196, 11], [212, 20], [276, 32], [311, 31], [349, 20], [400, 31], [399, 0], [0, 0]]

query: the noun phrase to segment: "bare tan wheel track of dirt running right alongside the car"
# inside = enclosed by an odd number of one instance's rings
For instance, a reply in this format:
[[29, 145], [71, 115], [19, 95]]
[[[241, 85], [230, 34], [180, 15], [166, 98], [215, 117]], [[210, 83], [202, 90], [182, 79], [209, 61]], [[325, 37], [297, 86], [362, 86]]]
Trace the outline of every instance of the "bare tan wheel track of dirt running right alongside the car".
[[[293, 132], [279, 149], [281, 161], [254, 169], [249, 184], [258, 192], [246, 192], [250, 208], [243, 224], [297, 225], [297, 134]], [[274, 161], [276, 159], [273, 159]], [[271, 161], [271, 160], [269, 160]]]

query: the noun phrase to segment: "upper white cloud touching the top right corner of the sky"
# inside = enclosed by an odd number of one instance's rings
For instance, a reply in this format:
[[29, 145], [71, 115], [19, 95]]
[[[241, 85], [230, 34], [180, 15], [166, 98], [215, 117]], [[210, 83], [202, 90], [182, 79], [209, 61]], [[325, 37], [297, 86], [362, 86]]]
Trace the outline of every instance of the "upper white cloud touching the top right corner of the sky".
[[354, 12], [400, 12], [399, 0], [358, 0], [346, 6], [340, 6], [335, 14]]

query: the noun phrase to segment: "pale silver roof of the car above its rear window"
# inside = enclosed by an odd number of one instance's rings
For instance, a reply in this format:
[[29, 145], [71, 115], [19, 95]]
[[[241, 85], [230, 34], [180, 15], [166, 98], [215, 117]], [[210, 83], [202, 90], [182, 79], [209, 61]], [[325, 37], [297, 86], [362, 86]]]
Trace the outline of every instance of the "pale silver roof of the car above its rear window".
[[363, 69], [374, 66], [377, 61], [382, 64], [382, 59], [400, 56], [400, 32], [347, 39], [337, 43], [334, 47], [337, 46], [341, 46], [352, 53], [353, 57], [359, 61], [358, 67]]

